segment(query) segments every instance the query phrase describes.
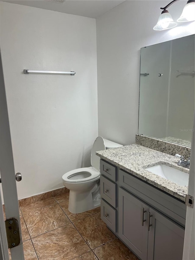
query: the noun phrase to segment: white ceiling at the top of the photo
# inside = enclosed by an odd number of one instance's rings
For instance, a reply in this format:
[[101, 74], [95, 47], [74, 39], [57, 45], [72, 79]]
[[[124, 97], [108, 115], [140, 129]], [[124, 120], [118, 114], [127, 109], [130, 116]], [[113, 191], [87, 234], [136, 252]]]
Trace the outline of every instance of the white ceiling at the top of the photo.
[[3, 2], [97, 18], [125, 0], [66, 0], [63, 3], [48, 0], [4, 0]]

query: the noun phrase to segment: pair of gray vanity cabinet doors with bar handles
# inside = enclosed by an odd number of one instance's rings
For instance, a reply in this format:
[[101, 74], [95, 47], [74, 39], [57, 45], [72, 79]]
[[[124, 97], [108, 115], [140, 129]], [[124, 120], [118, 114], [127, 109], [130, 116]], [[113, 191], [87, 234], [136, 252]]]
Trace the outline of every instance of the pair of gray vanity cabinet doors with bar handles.
[[182, 260], [184, 232], [183, 227], [119, 188], [119, 237], [142, 260]]

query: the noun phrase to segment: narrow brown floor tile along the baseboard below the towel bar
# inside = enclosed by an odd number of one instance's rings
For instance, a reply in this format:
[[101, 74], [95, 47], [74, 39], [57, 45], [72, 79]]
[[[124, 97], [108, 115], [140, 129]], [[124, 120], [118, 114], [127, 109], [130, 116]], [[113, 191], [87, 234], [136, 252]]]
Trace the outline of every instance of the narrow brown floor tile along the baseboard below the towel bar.
[[22, 214], [27, 214], [37, 209], [46, 208], [48, 206], [55, 205], [55, 204], [57, 204], [57, 202], [55, 201], [54, 198], [48, 198], [42, 201], [37, 201], [28, 205], [21, 206], [20, 209], [22, 211]]

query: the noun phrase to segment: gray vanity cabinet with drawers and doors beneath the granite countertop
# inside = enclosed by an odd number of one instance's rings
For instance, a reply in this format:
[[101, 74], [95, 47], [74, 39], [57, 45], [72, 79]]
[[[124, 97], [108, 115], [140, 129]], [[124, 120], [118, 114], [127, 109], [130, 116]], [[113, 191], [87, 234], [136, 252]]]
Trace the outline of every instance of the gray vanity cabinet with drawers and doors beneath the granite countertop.
[[101, 219], [141, 260], [182, 260], [186, 205], [100, 160]]

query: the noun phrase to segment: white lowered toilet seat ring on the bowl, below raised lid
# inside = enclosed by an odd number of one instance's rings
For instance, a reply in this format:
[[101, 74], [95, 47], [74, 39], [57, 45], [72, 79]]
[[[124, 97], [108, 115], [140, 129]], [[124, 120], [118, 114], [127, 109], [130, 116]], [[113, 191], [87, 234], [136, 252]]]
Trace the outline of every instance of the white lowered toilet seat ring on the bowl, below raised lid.
[[85, 167], [85, 168], [79, 168], [72, 171], [69, 171], [68, 173], [65, 173], [62, 176], [62, 180], [65, 182], [85, 182], [88, 180], [93, 180], [100, 176], [100, 172], [98, 172], [93, 167]]

